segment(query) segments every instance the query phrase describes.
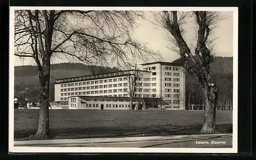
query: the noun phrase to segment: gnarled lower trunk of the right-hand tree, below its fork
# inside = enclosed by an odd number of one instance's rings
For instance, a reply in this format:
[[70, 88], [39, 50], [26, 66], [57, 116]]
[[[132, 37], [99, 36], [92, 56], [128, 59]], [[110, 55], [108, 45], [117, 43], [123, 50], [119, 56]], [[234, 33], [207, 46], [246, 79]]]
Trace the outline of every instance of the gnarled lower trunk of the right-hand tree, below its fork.
[[202, 89], [205, 95], [205, 118], [201, 133], [207, 134], [215, 132], [218, 88], [217, 86], [206, 86]]

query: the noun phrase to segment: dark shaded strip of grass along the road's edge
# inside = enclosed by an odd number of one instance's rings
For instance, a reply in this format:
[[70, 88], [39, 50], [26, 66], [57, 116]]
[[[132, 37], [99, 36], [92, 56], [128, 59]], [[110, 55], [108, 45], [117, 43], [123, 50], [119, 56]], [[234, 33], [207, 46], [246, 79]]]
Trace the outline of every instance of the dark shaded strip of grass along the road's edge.
[[[49, 139], [79, 139], [79, 138], [116, 138], [116, 137], [145, 137], [145, 136], [179, 136], [198, 135], [202, 125], [175, 126], [151, 125], [145, 127], [76, 127], [50, 128]], [[216, 125], [216, 132], [221, 134], [232, 133], [232, 124]], [[36, 130], [15, 131], [15, 141], [35, 135]], [[26, 139], [25, 139], [26, 140]]]

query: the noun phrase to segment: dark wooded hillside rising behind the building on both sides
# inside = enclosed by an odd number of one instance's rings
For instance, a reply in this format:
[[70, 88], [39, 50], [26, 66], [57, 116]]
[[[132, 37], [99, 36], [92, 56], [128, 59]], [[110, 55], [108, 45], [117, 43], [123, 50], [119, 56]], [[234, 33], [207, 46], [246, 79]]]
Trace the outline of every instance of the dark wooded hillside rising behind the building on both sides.
[[[175, 60], [174, 63], [181, 63]], [[216, 57], [215, 62], [210, 65], [212, 80], [219, 87], [219, 105], [232, 104], [233, 87], [233, 58]], [[50, 100], [54, 100], [55, 79], [99, 74], [118, 71], [118, 68], [103, 68], [100, 66], [86, 66], [81, 63], [60, 63], [51, 65], [50, 78]], [[15, 66], [14, 67], [14, 91], [15, 96], [29, 97], [37, 101], [39, 94], [39, 80], [36, 66]], [[202, 91], [195, 78], [186, 72], [186, 105], [204, 103]]]

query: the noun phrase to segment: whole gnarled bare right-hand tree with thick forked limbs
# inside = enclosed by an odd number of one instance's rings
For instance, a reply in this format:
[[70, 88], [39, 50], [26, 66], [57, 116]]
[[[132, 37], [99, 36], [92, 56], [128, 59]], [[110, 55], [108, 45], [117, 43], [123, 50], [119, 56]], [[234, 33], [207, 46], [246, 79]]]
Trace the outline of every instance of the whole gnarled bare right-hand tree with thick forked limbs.
[[[218, 99], [218, 87], [212, 84], [210, 78], [210, 63], [214, 57], [214, 39], [209, 35], [221, 18], [219, 12], [212, 11], [160, 11], [152, 12], [155, 20], [170, 34], [169, 48], [178, 52], [185, 69], [193, 75], [202, 87], [205, 95], [205, 119], [201, 132], [211, 133], [215, 131], [216, 106]], [[189, 22], [195, 24], [196, 44], [189, 44], [184, 39], [184, 25]], [[189, 26], [188, 26], [189, 27]]]

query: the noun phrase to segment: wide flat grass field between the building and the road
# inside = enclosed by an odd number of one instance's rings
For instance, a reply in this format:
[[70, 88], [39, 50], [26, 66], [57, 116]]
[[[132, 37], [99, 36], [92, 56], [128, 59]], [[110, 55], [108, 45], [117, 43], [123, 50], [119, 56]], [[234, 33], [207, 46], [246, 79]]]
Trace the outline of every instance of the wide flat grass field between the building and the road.
[[[204, 111], [50, 110], [51, 139], [200, 134]], [[38, 110], [14, 111], [14, 140], [36, 134]], [[216, 131], [232, 132], [232, 111], [217, 111]]]

